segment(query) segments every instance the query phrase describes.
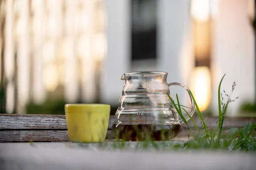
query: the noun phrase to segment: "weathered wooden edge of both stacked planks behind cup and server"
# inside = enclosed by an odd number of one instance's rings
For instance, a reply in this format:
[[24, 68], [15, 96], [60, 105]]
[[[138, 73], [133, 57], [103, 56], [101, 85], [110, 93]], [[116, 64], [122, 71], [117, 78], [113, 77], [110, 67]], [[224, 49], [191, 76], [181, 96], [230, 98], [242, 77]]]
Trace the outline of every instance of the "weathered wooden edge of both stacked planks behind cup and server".
[[[218, 118], [207, 117], [208, 127], [214, 127]], [[243, 127], [250, 121], [250, 117], [226, 117], [226, 129]], [[111, 126], [114, 116], [110, 116], [106, 139], [111, 139]], [[251, 122], [256, 123], [256, 117]], [[200, 119], [195, 118], [195, 123], [200, 126]], [[189, 125], [192, 122], [189, 121]], [[189, 130], [182, 124], [183, 132], [179, 136], [188, 136]], [[178, 136], [178, 137], [179, 137]], [[0, 114], [0, 142], [65, 142], [70, 141], [67, 132], [65, 115], [19, 115]]]

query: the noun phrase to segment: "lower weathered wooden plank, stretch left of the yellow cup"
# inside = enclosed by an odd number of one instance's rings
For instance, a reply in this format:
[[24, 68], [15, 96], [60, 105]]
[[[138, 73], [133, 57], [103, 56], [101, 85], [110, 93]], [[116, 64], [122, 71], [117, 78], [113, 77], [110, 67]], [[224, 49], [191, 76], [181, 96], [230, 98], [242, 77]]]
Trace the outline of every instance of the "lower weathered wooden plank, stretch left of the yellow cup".
[[0, 142], [70, 141], [67, 130], [6, 130], [0, 131]]

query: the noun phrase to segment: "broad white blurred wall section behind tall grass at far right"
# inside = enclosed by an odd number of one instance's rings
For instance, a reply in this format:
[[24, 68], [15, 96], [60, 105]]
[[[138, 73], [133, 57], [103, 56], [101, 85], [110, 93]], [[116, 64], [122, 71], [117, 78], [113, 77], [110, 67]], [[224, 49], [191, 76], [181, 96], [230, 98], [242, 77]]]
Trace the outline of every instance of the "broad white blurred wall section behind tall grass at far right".
[[238, 113], [240, 104], [255, 99], [254, 34], [250, 26], [250, 0], [218, 0], [213, 33], [212, 106], [218, 114], [218, 83], [226, 74], [222, 89], [230, 92], [236, 81], [230, 113]]

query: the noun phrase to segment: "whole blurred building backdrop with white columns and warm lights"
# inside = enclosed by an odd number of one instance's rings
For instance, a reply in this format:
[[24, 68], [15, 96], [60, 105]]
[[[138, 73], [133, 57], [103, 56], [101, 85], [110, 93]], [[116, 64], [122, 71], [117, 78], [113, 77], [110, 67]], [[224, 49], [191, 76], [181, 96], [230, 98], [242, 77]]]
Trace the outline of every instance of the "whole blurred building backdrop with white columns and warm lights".
[[[200, 108], [255, 102], [254, 0], [0, 0], [2, 113], [64, 114], [65, 103], [115, 112], [130, 71], [166, 71]], [[184, 105], [186, 92], [172, 88]], [[253, 105], [253, 104], [252, 104]]]

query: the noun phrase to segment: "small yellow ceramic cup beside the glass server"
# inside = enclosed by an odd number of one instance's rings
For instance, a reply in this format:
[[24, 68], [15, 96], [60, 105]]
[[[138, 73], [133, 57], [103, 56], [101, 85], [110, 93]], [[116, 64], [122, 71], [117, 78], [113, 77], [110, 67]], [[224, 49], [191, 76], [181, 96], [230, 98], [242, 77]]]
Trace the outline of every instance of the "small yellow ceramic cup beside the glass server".
[[110, 105], [66, 104], [67, 131], [72, 142], [104, 142]]

